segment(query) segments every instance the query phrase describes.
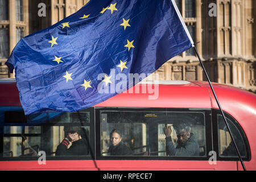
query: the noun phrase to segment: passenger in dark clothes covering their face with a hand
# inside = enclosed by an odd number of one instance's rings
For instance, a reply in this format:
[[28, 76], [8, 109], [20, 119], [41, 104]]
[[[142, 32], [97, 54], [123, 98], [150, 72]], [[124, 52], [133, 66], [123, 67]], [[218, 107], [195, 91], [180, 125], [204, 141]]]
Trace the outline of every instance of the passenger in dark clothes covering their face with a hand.
[[[57, 146], [55, 155], [88, 155], [89, 150], [84, 138], [81, 137], [81, 128], [79, 126], [65, 127], [65, 138]], [[71, 146], [69, 147], [69, 145]]]

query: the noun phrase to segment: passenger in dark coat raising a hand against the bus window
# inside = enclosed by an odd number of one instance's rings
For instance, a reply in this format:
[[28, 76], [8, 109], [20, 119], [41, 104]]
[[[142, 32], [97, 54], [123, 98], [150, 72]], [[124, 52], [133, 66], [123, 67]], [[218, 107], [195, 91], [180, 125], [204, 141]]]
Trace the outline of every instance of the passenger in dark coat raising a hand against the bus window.
[[177, 131], [177, 146], [174, 146], [171, 138], [171, 126], [163, 128], [166, 135], [166, 154], [169, 156], [199, 156], [199, 144], [195, 134], [191, 133], [191, 127], [186, 123], [179, 123], [175, 130]]

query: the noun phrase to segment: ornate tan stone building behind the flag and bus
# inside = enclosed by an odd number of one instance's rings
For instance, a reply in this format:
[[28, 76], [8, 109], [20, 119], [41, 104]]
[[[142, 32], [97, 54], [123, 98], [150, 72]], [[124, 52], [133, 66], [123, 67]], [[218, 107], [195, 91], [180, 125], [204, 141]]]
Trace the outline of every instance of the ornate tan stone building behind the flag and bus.
[[[88, 1], [0, 0], [0, 77], [14, 76], [5, 62], [23, 36], [59, 22]], [[175, 1], [197, 43], [210, 80], [255, 93], [256, 1]], [[40, 3], [46, 5], [46, 16], [38, 16]], [[206, 80], [193, 49], [168, 60], [156, 73], [159, 73], [159, 80]]]

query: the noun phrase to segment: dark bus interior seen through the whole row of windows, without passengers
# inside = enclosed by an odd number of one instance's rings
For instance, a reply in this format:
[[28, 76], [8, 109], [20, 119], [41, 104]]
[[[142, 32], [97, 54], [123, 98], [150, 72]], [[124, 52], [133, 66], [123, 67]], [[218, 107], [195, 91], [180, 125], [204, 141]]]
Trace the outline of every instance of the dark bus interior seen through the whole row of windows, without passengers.
[[[44, 151], [50, 159], [159, 159], [159, 160], [207, 160], [212, 146], [218, 148], [221, 160], [237, 160], [229, 133], [221, 115], [215, 113], [212, 130], [212, 110], [207, 109], [159, 109], [159, 108], [94, 108], [74, 113], [40, 113], [24, 115], [22, 107], [1, 107], [1, 160], [36, 159]], [[239, 140], [242, 157], [250, 158], [249, 146], [237, 122], [229, 117], [230, 126]], [[164, 126], [170, 126], [171, 140], [178, 146], [177, 126], [185, 123], [195, 136], [199, 154], [196, 156], [168, 156]], [[81, 127], [81, 138], [88, 146], [88, 155], [56, 156], [56, 148], [65, 138], [64, 129]], [[133, 152], [131, 155], [112, 156], [110, 132], [121, 131], [122, 142]], [[212, 132], [216, 132], [217, 143], [212, 144]], [[72, 146], [72, 142], [71, 142]], [[71, 147], [68, 146], [68, 147]]]

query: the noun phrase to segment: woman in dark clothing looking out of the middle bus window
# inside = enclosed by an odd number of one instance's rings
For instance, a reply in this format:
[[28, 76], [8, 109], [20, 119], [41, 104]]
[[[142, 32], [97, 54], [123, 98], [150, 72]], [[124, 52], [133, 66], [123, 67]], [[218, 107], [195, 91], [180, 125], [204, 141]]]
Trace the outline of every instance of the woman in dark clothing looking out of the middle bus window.
[[118, 129], [113, 129], [109, 135], [110, 147], [109, 155], [133, 155], [133, 151], [122, 141], [121, 132]]

